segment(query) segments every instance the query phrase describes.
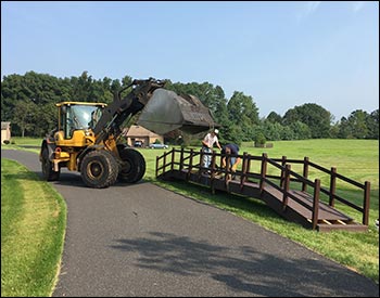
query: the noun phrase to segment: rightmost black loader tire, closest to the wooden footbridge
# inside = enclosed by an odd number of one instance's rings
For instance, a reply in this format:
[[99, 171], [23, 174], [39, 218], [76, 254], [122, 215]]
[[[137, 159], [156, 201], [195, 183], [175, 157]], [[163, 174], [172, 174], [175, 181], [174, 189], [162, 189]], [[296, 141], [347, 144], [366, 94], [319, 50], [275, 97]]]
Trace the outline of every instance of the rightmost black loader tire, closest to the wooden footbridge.
[[122, 158], [122, 169], [118, 173], [118, 180], [126, 183], [140, 181], [145, 173], [145, 159], [142, 154], [123, 145], [118, 145], [117, 150]]

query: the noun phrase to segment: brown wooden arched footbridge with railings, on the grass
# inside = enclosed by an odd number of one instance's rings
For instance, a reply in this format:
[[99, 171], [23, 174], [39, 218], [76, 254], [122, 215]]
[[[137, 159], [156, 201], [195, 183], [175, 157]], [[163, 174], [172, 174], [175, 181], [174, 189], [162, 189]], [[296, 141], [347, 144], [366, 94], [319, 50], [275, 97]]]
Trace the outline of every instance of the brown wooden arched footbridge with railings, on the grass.
[[[368, 230], [370, 183], [356, 182], [339, 174], [337, 168], [326, 169], [309, 160], [269, 158], [267, 154], [253, 156], [244, 153], [236, 172], [221, 169], [221, 158], [227, 165], [232, 155], [210, 153], [210, 168], [202, 167], [202, 151], [173, 148], [156, 157], [155, 176], [161, 179], [179, 179], [201, 184], [215, 191], [225, 191], [243, 196], [259, 198], [281, 217], [297, 222], [307, 229], [327, 232], [344, 230], [366, 232]], [[292, 165], [297, 170], [292, 169]], [[309, 176], [321, 179], [311, 180]], [[338, 193], [337, 183], [343, 181], [350, 189], [358, 189], [362, 198], [356, 204]], [[358, 203], [359, 202], [359, 203]], [[337, 203], [337, 204], [335, 204]], [[349, 206], [362, 213], [362, 222], [339, 211], [338, 206]]]

